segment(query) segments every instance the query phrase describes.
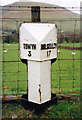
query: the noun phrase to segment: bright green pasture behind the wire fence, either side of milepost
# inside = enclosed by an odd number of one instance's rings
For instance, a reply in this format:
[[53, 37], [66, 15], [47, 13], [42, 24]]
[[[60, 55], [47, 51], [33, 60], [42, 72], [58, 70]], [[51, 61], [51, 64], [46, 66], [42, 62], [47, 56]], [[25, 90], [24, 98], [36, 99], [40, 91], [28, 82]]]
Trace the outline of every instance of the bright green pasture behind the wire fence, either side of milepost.
[[[69, 44], [67, 44], [69, 45]], [[70, 44], [72, 45], [72, 44]], [[78, 44], [75, 44], [78, 46]], [[20, 61], [20, 54], [17, 44], [4, 44], [4, 49], [8, 49], [3, 54], [3, 88], [7, 86], [4, 94], [22, 94], [27, 92], [27, 67]], [[80, 50], [60, 49], [58, 59], [80, 59]], [[75, 52], [75, 55], [72, 55]], [[11, 61], [20, 62], [11, 62]], [[74, 69], [74, 71], [73, 71]], [[19, 71], [19, 72], [18, 72]], [[8, 73], [9, 72], [9, 73]], [[73, 81], [73, 76], [75, 80]], [[80, 91], [80, 60], [56, 60], [52, 65], [51, 84], [53, 93], [79, 94]], [[73, 88], [74, 86], [74, 88]]]

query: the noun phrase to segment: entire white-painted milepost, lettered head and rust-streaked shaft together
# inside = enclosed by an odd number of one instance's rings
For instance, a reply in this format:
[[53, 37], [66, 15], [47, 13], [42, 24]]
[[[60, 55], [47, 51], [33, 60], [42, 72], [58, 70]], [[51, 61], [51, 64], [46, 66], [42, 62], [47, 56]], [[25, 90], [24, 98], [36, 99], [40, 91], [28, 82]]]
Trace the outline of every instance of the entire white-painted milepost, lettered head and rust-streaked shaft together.
[[51, 59], [57, 58], [54, 24], [24, 23], [20, 27], [20, 58], [28, 62], [28, 101], [51, 100]]

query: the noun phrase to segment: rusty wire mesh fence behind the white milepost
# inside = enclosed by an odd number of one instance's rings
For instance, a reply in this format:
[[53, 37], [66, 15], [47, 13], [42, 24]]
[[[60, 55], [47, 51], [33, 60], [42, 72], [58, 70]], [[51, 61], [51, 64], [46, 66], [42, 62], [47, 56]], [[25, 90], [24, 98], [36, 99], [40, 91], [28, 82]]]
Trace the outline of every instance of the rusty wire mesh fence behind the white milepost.
[[[70, 10], [74, 7], [69, 7]], [[79, 8], [74, 10], [78, 11]], [[79, 15], [63, 7], [40, 7], [41, 23], [57, 27], [58, 58], [51, 68], [51, 88], [56, 94], [80, 94]], [[19, 27], [31, 22], [31, 6], [2, 7], [2, 94], [27, 93], [27, 66], [20, 60]], [[4, 97], [6, 99], [6, 97]]]

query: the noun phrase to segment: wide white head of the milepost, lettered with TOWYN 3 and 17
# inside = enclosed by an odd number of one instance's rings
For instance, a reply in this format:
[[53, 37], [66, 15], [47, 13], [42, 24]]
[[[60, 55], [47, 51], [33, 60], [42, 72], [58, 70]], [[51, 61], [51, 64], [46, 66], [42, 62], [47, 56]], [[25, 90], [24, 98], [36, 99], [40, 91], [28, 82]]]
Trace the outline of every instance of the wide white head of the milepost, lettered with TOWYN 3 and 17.
[[20, 33], [20, 56], [24, 59], [44, 61], [57, 58], [55, 24], [23, 23]]

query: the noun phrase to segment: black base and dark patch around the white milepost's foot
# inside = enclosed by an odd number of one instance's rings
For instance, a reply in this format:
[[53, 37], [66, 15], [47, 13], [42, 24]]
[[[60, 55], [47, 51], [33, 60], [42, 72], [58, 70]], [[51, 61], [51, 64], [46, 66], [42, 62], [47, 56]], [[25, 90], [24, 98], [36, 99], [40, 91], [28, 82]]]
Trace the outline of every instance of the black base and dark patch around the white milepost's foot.
[[48, 107], [57, 104], [57, 96], [56, 94], [52, 94], [52, 100], [48, 101], [46, 103], [43, 104], [36, 104], [36, 103], [32, 103], [28, 101], [28, 95], [25, 94], [21, 97], [21, 104], [23, 106], [23, 108], [25, 110], [34, 110], [34, 114], [36, 115], [41, 115], [42, 113], [44, 113]]

